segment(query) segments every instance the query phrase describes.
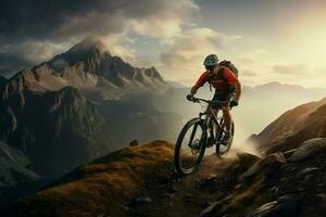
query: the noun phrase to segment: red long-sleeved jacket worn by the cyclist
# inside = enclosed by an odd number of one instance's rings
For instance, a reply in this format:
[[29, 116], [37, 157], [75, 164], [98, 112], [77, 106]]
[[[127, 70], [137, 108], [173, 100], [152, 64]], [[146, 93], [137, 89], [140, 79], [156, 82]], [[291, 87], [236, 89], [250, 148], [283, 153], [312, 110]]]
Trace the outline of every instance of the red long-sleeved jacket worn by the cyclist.
[[217, 71], [215, 71], [215, 75], [212, 79], [209, 79], [210, 72], [206, 71], [204, 72], [200, 78], [197, 80], [195, 87], [200, 88], [203, 86], [206, 81], [209, 81], [216, 90], [218, 91], [225, 91], [228, 90], [229, 85], [235, 85], [238, 81], [238, 78], [233, 74], [230, 69], [227, 67], [223, 67], [223, 74], [224, 74], [224, 79], [221, 79], [217, 76]]

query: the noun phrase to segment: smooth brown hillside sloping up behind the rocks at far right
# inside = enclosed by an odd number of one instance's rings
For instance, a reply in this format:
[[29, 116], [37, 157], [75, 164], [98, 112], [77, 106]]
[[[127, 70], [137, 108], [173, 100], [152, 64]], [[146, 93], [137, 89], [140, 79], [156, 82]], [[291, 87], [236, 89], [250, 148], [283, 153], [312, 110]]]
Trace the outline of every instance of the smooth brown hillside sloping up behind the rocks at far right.
[[325, 118], [326, 99], [323, 99], [284, 113], [250, 139], [268, 153], [294, 149], [309, 139], [326, 137]]

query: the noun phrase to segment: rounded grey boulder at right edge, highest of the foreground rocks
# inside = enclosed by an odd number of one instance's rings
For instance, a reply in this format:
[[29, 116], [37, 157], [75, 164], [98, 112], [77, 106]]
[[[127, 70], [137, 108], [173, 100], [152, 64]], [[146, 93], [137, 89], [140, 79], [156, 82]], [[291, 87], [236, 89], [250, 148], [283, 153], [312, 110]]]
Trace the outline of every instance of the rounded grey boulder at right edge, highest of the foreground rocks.
[[315, 138], [308, 140], [299, 146], [292, 156], [289, 158], [291, 162], [301, 162], [306, 158], [313, 157], [314, 155], [326, 151], [326, 138]]

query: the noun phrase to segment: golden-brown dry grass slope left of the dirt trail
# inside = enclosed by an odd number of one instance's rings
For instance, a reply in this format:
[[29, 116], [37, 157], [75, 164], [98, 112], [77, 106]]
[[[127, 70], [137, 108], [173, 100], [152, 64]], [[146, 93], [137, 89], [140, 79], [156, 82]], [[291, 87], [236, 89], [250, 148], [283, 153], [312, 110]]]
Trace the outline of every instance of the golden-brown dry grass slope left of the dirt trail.
[[173, 154], [174, 145], [165, 141], [126, 148], [77, 168], [59, 186], [21, 200], [15, 207], [22, 216], [26, 212], [33, 214], [27, 216], [124, 215], [122, 205]]

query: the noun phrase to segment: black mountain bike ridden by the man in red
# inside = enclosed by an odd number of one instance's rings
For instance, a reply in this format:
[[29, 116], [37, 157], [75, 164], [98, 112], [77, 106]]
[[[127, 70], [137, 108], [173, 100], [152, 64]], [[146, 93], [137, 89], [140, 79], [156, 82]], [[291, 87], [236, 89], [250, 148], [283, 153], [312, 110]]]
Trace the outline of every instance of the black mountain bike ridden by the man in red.
[[[235, 135], [235, 124], [231, 122], [230, 139], [225, 144], [223, 137], [226, 133], [223, 114], [220, 111], [228, 105], [227, 101], [210, 101], [192, 98], [192, 102], [206, 103], [204, 112], [190, 119], [183, 127], [175, 145], [175, 167], [185, 176], [193, 173], [200, 165], [206, 148], [215, 145], [215, 153], [223, 158], [227, 155]], [[222, 112], [221, 112], [222, 113]]]

